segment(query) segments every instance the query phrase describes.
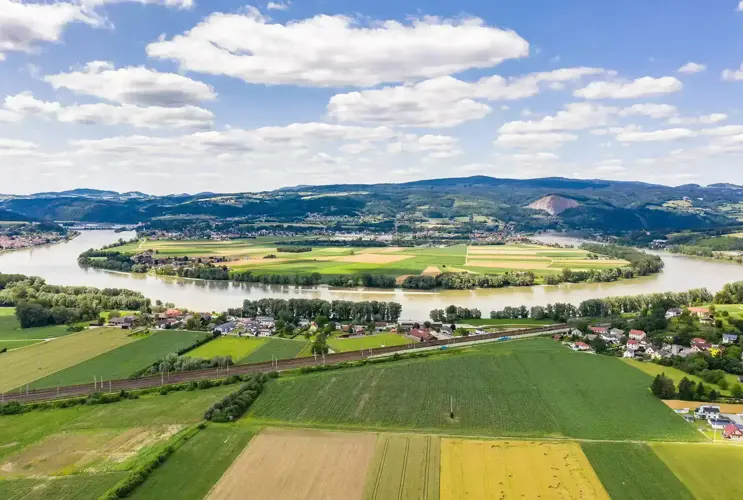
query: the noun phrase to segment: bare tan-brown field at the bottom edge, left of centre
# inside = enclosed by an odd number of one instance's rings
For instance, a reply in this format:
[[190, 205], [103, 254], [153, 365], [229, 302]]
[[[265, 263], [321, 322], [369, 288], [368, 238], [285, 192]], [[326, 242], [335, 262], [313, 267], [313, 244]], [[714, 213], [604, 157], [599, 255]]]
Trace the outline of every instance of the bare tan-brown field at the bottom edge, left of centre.
[[374, 434], [264, 430], [222, 476], [208, 500], [362, 500]]

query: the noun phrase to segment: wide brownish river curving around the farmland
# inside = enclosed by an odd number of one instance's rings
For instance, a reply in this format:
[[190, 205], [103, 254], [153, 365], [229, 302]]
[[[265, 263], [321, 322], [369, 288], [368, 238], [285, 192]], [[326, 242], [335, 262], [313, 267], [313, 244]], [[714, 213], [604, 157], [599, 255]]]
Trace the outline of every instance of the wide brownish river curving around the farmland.
[[[542, 305], [549, 302], [579, 302], [597, 297], [637, 295], [653, 292], [680, 292], [705, 287], [712, 292], [725, 283], [743, 280], [743, 265], [671, 255], [658, 252], [665, 261], [662, 273], [615, 283], [565, 284], [484, 290], [447, 290], [415, 292], [402, 290], [362, 291], [333, 290], [327, 287], [298, 288], [280, 285], [238, 284], [224, 281], [200, 281], [125, 274], [99, 269], [82, 269], [77, 256], [89, 248], [100, 248], [119, 238], [130, 239], [135, 234], [113, 231], [83, 231], [69, 242], [45, 247], [0, 253], [0, 272], [41, 276], [55, 285], [84, 285], [99, 288], [129, 288], [151, 299], [173, 302], [180, 307], [199, 311], [223, 311], [238, 307], [243, 299], [320, 298], [325, 300], [393, 300], [403, 305], [405, 318], [427, 318], [431, 309], [450, 304], [476, 307], [487, 315], [505, 306]], [[577, 243], [561, 236], [543, 240]]]

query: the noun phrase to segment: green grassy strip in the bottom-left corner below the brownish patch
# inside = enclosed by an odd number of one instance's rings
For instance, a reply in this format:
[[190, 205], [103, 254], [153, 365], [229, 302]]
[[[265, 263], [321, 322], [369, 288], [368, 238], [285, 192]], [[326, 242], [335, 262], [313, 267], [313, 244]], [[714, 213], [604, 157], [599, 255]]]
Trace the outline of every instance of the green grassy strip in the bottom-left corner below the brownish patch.
[[3, 500], [98, 500], [124, 473], [0, 480]]

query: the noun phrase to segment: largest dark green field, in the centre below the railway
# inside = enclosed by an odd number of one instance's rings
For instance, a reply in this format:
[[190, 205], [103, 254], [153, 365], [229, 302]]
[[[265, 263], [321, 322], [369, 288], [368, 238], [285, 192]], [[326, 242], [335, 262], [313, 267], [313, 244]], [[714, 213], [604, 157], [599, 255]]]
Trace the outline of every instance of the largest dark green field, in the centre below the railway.
[[249, 416], [477, 435], [704, 439], [648, 391], [651, 382], [618, 359], [533, 339], [282, 377]]

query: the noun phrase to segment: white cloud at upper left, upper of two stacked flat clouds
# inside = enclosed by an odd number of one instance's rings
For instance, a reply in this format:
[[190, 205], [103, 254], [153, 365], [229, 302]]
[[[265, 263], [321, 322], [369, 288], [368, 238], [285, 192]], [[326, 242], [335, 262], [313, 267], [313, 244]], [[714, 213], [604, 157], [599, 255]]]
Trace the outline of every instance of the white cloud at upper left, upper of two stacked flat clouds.
[[55, 89], [139, 106], [178, 107], [216, 97], [209, 85], [182, 75], [142, 66], [115, 69], [106, 61], [89, 62], [81, 71], [48, 75], [44, 80]]

